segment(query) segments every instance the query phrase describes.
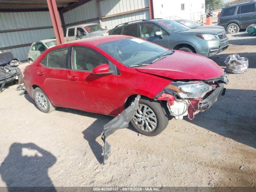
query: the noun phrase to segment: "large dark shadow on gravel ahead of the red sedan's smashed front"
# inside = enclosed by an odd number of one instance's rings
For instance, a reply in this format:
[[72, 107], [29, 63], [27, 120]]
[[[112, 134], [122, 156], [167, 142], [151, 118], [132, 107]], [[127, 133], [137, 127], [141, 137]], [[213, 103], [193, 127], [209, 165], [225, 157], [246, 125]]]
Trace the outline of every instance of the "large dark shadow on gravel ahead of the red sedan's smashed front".
[[225, 96], [194, 120], [184, 120], [256, 148], [256, 90], [227, 89]]

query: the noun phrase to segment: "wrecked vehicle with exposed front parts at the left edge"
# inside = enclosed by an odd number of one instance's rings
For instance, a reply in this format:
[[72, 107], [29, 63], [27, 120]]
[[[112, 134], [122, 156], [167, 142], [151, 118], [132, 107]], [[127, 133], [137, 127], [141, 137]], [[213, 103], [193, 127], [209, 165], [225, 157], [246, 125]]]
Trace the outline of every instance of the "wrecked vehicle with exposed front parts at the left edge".
[[23, 75], [18, 65], [20, 64], [17, 58], [12, 56], [11, 52], [0, 53], [0, 92], [8, 82], [21, 84]]

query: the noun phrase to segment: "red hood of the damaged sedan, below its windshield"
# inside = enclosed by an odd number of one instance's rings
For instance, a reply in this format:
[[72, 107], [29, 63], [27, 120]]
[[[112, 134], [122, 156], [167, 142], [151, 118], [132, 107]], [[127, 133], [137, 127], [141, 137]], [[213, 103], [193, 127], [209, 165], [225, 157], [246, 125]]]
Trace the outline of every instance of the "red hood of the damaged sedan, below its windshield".
[[170, 79], [206, 80], [224, 74], [222, 68], [213, 60], [178, 50], [158, 62], [136, 68], [136, 70]]

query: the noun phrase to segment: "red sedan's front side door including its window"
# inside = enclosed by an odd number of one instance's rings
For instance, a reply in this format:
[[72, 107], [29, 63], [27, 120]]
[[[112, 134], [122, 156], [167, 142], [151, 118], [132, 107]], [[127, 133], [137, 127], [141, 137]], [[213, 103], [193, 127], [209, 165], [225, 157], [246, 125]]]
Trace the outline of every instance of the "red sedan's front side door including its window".
[[73, 47], [70, 92], [76, 109], [115, 116], [119, 113], [117, 75], [93, 74], [93, 68], [100, 64], [108, 64], [108, 60], [97, 51]]

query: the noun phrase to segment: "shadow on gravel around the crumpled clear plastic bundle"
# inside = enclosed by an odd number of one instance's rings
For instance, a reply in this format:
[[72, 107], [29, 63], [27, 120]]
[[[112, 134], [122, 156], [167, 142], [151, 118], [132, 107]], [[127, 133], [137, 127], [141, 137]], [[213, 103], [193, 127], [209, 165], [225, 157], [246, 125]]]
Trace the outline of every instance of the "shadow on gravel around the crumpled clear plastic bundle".
[[[210, 59], [214, 60], [214, 62], [216, 62], [219, 66], [226, 67], [226, 64], [224, 63], [224, 60], [230, 54], [218, 54], [218, 55], [211, 56]], [[240, 57], [248, 58], [248, 60], [249, 60], [248, 68], [256, 68], [256, 53], [238, 53], [238, 55]]]

